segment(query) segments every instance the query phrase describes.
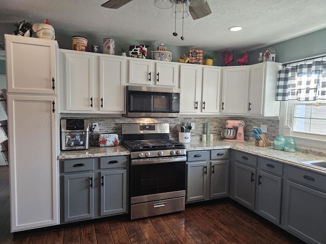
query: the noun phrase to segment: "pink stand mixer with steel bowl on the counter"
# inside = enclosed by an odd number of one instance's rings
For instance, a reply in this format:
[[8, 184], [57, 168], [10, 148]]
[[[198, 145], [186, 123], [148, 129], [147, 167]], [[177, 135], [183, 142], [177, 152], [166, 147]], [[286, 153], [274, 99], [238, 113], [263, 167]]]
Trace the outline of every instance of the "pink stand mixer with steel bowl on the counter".
[[226, 120], [225, 129], [221, 133], [223, 141], [244, 142], [243, 127], [244, 121], [242, 120]]

